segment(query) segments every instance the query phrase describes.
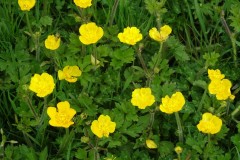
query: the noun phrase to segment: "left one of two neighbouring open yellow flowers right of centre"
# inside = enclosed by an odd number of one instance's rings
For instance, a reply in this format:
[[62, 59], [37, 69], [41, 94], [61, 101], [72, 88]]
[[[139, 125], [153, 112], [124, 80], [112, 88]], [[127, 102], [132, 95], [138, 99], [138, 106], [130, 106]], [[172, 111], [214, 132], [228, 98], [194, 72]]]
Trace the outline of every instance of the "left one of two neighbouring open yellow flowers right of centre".
[[138, 106], [139, 109], [145, 109], [155, 102], [155, 97], [152, 95], [150, 88], [138, 88], [132, 92], [131, 103]]

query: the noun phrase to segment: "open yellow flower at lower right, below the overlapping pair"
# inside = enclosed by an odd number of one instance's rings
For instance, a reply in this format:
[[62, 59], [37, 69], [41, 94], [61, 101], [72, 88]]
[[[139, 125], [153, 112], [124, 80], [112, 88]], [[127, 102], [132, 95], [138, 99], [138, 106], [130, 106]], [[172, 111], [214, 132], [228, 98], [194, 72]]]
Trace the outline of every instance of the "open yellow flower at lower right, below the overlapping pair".
[[216, 134], [221, 130], [222, 120], [212, 115], [211, 113], [204, 113], [202, 119], [197, 125], [199, 131], [203, 133]]

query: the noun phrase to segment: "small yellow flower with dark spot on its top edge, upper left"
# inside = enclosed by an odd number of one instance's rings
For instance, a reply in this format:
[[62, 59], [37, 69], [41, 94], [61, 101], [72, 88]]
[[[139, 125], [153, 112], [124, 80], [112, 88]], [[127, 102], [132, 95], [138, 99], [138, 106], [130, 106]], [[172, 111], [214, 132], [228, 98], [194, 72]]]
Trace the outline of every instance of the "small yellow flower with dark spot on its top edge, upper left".
[[50, 50], [56, 50], [60, 46], [61, 38], [59, 36], [49, 35], [45, 40], [45, 47]]

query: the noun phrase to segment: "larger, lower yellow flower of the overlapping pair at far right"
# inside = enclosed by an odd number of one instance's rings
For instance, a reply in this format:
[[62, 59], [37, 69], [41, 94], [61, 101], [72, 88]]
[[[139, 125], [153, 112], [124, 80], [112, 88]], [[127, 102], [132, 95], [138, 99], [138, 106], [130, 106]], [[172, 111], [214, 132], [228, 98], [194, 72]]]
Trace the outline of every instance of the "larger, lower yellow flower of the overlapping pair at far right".
[[210, 94], [215, 94], [218, 100], [234, 99], [235, 96], [231, 94], [232, 83], [228, 79], [213, 80], [208, 85]]

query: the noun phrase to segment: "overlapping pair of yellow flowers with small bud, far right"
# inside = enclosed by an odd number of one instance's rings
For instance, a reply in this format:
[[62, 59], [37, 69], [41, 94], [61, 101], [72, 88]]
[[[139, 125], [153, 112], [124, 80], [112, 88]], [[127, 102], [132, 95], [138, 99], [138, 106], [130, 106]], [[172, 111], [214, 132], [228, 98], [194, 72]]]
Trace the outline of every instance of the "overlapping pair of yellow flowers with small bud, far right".
[[234, 99], [231, 94], [232, 83], [228, 79], [224, 79], [225, 75], [221, 74], [220, 70], [208, 69], [208, 77], [211, 80], [208, 85], [210, 94], [215, 94], [218, 100]]

